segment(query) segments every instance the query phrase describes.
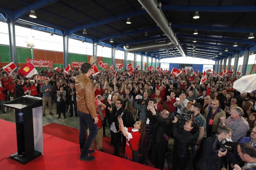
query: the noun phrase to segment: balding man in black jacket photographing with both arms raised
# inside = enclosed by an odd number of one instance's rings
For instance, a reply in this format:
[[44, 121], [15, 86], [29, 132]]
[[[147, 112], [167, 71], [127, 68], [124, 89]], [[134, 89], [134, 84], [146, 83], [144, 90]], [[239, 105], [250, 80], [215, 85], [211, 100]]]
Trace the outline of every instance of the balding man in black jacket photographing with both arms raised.
[[164, 168], [165, 153], [167, 151], [169, 126], [171, 124], [170, 113], [163, 110], [160, 114], [154, 107], [147, 108], [147, 116], [154, 124], [152, 132], [152, 164], [157, 169]]

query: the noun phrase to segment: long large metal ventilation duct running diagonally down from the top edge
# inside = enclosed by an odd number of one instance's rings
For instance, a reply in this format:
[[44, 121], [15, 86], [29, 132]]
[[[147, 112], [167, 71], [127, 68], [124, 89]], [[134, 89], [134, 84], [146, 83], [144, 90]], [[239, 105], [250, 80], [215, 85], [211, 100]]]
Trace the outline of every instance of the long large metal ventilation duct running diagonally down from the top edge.
[[162, 11], [161, 4], [156, 0], [138, 0], [138, 2], [142, 5], [142, 7], [147, 11], [147, 13], [151, 16], [151, 18], [156, 22], [158, 27], [165, 33], [165, 35], [174, 43], [176, 48], [182, 54], [183, 57], [186, 57], [182, 47], [180, 46], [177, 37], [174, 35], [172, 28], [168, 26], [169, 22], [165, 18], [164, 12]]

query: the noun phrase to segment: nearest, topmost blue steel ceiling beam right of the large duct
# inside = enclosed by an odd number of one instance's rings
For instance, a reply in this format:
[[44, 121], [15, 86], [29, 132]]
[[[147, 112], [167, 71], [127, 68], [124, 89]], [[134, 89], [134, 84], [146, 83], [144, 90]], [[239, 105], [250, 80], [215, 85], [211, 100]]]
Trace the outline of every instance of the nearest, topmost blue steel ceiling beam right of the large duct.
[[167, 11], [255, 12], [256, 5], [162, 5]]

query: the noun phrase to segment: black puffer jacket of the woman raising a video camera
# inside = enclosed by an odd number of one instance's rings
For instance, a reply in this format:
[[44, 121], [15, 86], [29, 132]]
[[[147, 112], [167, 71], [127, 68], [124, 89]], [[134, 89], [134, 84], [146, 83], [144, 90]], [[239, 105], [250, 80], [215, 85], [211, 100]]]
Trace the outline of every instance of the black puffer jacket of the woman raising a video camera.
[[174, 123], [173, 136], [175, 137], [173, 154], [178, 158], [189, 158], [190, 150], [188, 148], [193, 141], [193, 135], [191, 134], [191, 132], [177, 127], [176, 123]]

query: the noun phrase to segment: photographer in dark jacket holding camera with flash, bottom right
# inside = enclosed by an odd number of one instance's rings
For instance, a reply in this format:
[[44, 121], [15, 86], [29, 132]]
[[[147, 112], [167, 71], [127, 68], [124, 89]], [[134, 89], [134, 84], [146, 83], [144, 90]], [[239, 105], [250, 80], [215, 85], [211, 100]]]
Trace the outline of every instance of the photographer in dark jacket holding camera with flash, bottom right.
[[236, 164], [238, 163], [234, 155], [231, 152], [231, 147], [227, 146], [227, 143], [231, 143], [232, 130], [227, 126], [219, 126], [217, 134], [207, 138], [204, 141], [204, 147], [202, 152], [202, 165], [200, 161], [197, 165], [202, 166], [202, 169], [207, 170], [220, 170], [223, 168], [222, 156], [225, 156], [229, 161]]

